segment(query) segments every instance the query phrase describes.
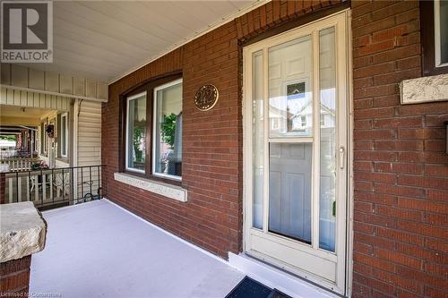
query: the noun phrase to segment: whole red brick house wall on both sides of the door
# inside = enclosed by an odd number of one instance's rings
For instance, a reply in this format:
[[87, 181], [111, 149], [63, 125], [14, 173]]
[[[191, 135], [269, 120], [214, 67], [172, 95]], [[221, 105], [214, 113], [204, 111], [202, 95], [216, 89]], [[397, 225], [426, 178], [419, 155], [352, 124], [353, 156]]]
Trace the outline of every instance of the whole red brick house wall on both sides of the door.
[[[330, 2], [273, 2], [195, 39], [109, 86], [103, 104], [108, 198], [202, 248], [242, 249], [241, 47]], [[333, 3], [332, 3], [333, 4]], [[448, 197], [443, 122], [447, 103], [401, 106], [398, 82], [420, 76], [418, 2], [352, 1], [355, 106], [355, 296], [446, 294]], [[118, 97], [142, 81], [184, 73], [181, 203], [114, 181]], [[220, 89], [211, 111], [194, 108], [205, 83]]]

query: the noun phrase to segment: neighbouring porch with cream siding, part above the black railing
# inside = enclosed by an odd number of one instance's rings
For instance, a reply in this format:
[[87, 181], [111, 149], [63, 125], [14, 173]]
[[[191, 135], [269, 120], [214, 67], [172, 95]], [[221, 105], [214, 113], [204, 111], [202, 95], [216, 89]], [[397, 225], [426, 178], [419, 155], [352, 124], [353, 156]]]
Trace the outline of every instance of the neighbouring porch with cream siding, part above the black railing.
[[0, 123], [34, 128], [35, 152], [48, 166], [99, 165], [101, 101], [107, 95], [97, 81], [2, 64]]

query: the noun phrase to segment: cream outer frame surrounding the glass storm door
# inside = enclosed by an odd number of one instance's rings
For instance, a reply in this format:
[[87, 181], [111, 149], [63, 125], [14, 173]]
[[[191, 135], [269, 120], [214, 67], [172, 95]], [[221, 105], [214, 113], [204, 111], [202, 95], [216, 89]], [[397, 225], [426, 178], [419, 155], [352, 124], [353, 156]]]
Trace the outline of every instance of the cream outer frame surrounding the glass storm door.
[[[307, 23], [304, 26], [298, 27], [296, 29], [293, 30], [289, 30], [286, 32], [283, 32], [275, 37], [276, 40], [276, 44], [278, 43], [279, 40], [290, 40], [291, 38], [293, 38], [295, 35], [297, 35], [297, 30], [302, 30], [302, 32], [306, 32], [306, 30], [310, 30], [313, 29], [313, 23], [318, 23], [316, 24], [316, 26], [326, 26], [326, 24], [335, 24], [336, 22], [339, 21], [339, 24], [342, 23], [343, 25], [338, 27], [337, 30], [337, 36], [338, 34], [343, 34], [343, 38], [336, 38], [336, 42], [338, 43], [338, 47], [336, 49], [336, 55], [337, 57], [340, 57], [340, 55], [343, 56], [344, 61], [341, 63], [339, 62], [339, 64], [337, 64], [336, 66], [336, 73], [338, 76], [342, 76], [345, 78], [345, 83], [341, 84], [340, 81], [343, 80], [339, 80], [338, 82], [338, 89], [339, 89], [339, 96], [342, 94], [342, 96], [346, 99], [346, 104], [345, 106], [343, 106], [343, 108], [346, 110], [346, 114], [347, 114], [347, 119], [339, 119], [338, 121], [345, 121], [346, 124], [344, 125], [345, 127], [347, 127], [347, 132], [343, 132], [346, 133], [346, 137], [345, 139], [347, 140], [347, 144], [346, 144], [346, 152], [347, 152], [347, 158], [345, 158], [346, 162], [346, 168], [347, 168], [347, 174], [348, 176], [346, 177], [346, 184], [347, 184], [347, 192], [345, 193], [347, 201], [346, 201], [346, 206], [345, 206], [345, 212], [346, 212], [346, 216], [343, 219], [345, 221], [345, 231], [343, 232], [343, 234], [340, 234], [338, 237], [342, 240], [345, 241], [344, 245], [345, 245], [345, 253], [343, 254], [342, 258], [337, 257], [337, 259], [339, 259], [338, 261], [340, 262], [339, 264], [339, 274], [337, 277], [337, 282], [336, 284], [332, 284], [330, 282], [325, 282], [322, 278], [315, 278], [312, 275], [306, 274], [306, 272], [301, 272], [301, 271], [296, 271], [296, 270], [289, 270], [289, 268], [285, 268], [286, 270], [291, 271], [293, 274], [296, 274], [298, 276], [301, 277], [305, 277], [306, 279], [309, 279], [315, 283], [318, 283], [319, 285], [323, 285], [329, 289], [332, 289], [333, 291], [339, 293], [339, 294], [349, 294], [351, 292], [351, 264], [352, 264], [352, 237], [353, 237], [353, 233], [352, 233], [352, 208], [353, 208], [353, 203], [352, 203], [352, 133], [351, 133], [351, 128], [352, 123], [353, 123], [353, 113], [352, 113], [352, 104], [351, 104], [351, 72], [350, 72], [350, 67], [351, 67], [351, 54], [350, 54], [350, 50], [351, 50], [351, 41], [349, 40], [350, 38], [350, 30], [349, 30], [349, 17], [350, 17], [350, 13], [349, 13], [349, 9], [341, 11], [339, 13], [334, 13], [328, 17], [325, 17], [323, 19], [317, 20], [317, 21], [313, 21], [311, 23]], [[306, 33], [304, 33], [305, 35]], [[246, 86], [250, 86], [251, 82], [252, 82], [252, 69], [251, 66], [252, 64], [247, 63], [246, 61], [246, 56], [247, 53], [252, 53], [254, 52], [254, 48], [256, 47], [260, 47], [261, 43], [269, 43], [270, 40], [272, 38], [266, 38], [260, 42], [254, 43], [253, 45], [249, 45], [247, 47], [245, 47], [243, 49], [244, 55], [243, 55], [243, 77], [244, 77], [244, 85], [243, 85], [243, 138], [244, 138], [244, 145], [243, 145], [243, 152], [244, 152], [244, 158], [243, 158], [243, 181], [244, 181], [244, 185], [243, 185], [243, 193], [244, 193], [244, 212], [243, 212], [243, 218], [244, 218], [244, 241], [243, 241], [243, 247], [244, 250], [247, 251], [247, 247], [248, 247], [248, 239], [249, 237], [247, 237], [247, 231], [249, 231], [250, 227], [252, 226], [252, 208], [251, 208], [251, 204], [252, 204], [252, 198], [253, 198], [253, 188], [252, 188], [252, 183], [253, 183], [253, 163], [252, 163], [252, 158], [253, 158], [253, 106], [252, 106], [252, 98], [253, 98], [253, 94], [252, 94], [252, 87], [251, 88], [246, 88]], [[340, 45], [340, 43], [343, 43], [343, 45]], [[346, 53], [339, 53], [338, 51], [340, 51], [340, 48], [345, 48], [346, 49]], [[266, 53], [264, 53], [266, 54]], [[267, 61], [267, 55], [263, 55], [265, 58], [264, 60], [264, 67], [267, 67], [266, 61]], [[315, 56], [315, 55], [314, 55]], [[346, 65], [346, 67], [340, 67], [340, 65]], [[315, 75], [315, 74], [314, 74]], [[314, 78], [314, 80], [316, 80], [316, 78]], [[318, 80], [318, 78], [317, 78]], [[267, 88], [267, 86], [265, 86], [265, 88]], [[264, 111], [264, 113], [267, 113], [267, 111]], [[265, 114], [266, 115], [266, 114]], [[339, 161], [339, 160], [338, 160]], [[339, 209], [338, 205], [338, 209]], [[266, 206], [265, 206], [266, 208]], [[265, 215], [264, 215], [265, 216]], [[306, 251], [306, 247], [303, 247], [303, 249]], [[320, 253], [321, 251], [318, 251], [318, 253]], [[315, 251], [314, 251], [315, 253]], [[252, 255], [254, 255], [254, 253], [252, 253]], [[256, 253], [255, 253], [255, 257], [257, 257]], [[261, 256], [260, 256], [261, 257]], [[336, 256], [331, 256], [328, 253], [322, 253], [322, 257], [328, 258], [328, 260], [336, 259]], [[261, 258], [266, 260], [265, 258]], [[271, 261], [268, 259], [268, 261]], [[275, 264], [274, 262], [274, 266], [277, 266], [278, 264]], [[282, 268], [281, 264], [280, 266], [278, 266], [280, 268]]]

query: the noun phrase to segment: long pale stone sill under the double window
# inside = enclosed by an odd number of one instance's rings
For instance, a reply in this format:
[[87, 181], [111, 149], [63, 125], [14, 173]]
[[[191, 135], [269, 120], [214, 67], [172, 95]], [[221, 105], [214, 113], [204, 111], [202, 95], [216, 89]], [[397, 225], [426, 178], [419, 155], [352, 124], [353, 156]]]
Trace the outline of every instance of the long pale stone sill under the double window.
[[182, 202], [185, 202], [187, 199], [186, 190], [177, 185], [161, 183], [159, 181], [153, 181], [150, 179], [137, 177], [125, 173], [114, 173], [114, 178], [118, 182], [126, 183], [128, 185], [141, 188], [142, 190], [148, 192], [154, 192], [159, 195], [168, 197], [169, 199], [179, 200]]

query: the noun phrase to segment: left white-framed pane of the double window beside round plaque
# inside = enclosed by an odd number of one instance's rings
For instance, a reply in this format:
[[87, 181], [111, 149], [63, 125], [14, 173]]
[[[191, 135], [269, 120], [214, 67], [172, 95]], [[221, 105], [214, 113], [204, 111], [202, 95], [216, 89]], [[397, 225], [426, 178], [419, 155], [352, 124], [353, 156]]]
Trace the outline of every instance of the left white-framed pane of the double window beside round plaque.
[[146, 92], [127, 99], [126, 169], [144, 173], [146, 156]]

